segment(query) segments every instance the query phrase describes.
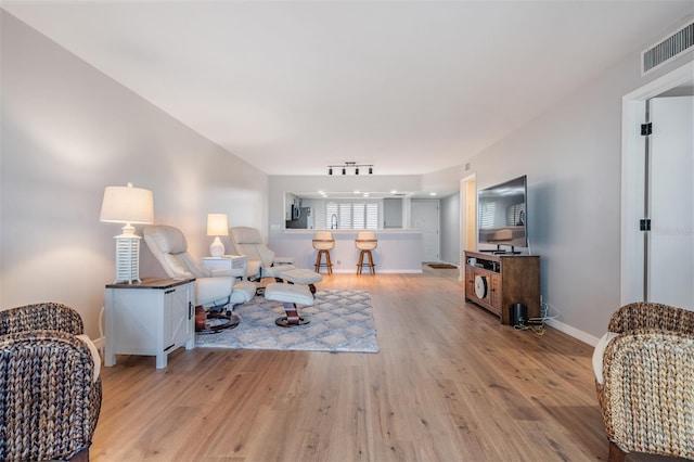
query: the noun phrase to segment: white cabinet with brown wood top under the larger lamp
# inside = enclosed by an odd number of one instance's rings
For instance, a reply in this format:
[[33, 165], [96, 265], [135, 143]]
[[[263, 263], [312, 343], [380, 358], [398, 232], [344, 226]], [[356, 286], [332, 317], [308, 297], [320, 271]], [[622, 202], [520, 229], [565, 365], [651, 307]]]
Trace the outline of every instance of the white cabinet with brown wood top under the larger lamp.
[[143, 278], [141, 283], [106, 285], [106, 352], [104, 364], [116, 355], [156, 356], [166, 368], [175, 349], [195, 347], [195, 279]]

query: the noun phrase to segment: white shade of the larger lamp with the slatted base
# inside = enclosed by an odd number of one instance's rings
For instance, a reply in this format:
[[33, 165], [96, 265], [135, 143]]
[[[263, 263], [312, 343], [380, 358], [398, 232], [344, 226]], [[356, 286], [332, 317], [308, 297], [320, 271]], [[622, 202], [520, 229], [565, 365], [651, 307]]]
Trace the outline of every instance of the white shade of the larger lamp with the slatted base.
[[152, 191], [133, 188], [132, 183], [127, 187], [106, 187], [99, 220], [110, 223], [153, 223]]

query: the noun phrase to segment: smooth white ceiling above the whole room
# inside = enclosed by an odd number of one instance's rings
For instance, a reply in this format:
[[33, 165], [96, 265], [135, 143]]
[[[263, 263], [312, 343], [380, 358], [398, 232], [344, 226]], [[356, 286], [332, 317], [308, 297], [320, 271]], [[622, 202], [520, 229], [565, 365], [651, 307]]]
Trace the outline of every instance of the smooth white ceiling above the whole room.
[[685, 1], [3, 1], [269, 175], [460, 166], [694, 13]]

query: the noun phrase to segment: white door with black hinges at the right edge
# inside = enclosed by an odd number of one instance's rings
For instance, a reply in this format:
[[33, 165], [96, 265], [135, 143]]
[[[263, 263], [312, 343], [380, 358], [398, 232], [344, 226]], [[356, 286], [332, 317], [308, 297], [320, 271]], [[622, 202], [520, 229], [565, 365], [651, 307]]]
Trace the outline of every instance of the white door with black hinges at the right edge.
[[651, 100], [648, 301], [694, 307], [694, 97]]

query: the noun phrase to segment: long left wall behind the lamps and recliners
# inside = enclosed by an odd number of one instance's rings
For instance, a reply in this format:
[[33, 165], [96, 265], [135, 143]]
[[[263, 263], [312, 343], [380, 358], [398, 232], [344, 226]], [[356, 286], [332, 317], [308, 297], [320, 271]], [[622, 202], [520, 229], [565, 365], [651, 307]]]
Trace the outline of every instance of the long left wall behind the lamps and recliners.
[[[198, 257], [211, 242], [207, 213], [266, 228], [265, 174], [0, 15], [0, 307], [62, 301], [98, 336], [120, 233], [99, 221], [107, 185], [151, 189], [155, 222], [179, 227]], [[140, 274], [164, 275], [144, 244]]]

